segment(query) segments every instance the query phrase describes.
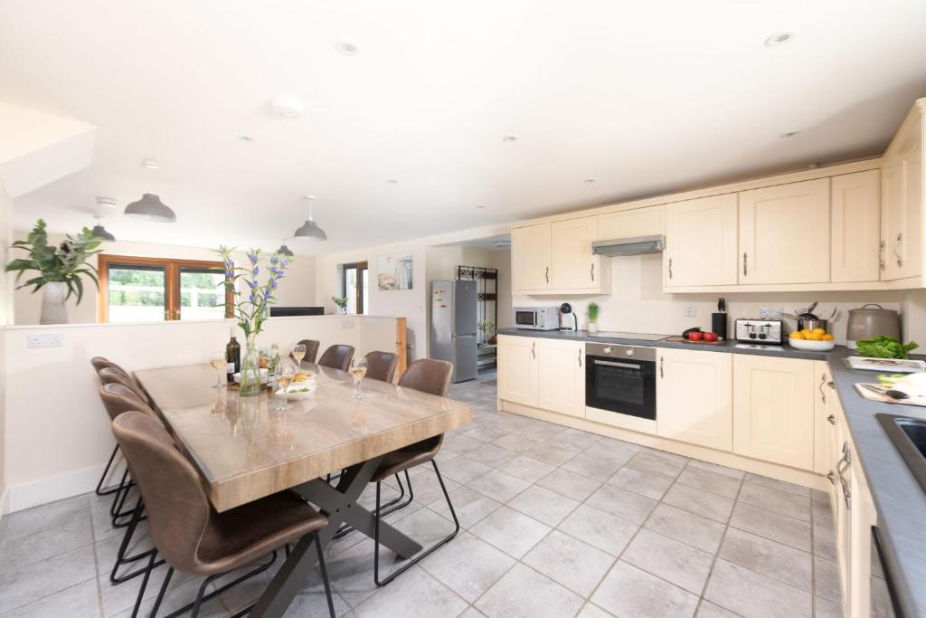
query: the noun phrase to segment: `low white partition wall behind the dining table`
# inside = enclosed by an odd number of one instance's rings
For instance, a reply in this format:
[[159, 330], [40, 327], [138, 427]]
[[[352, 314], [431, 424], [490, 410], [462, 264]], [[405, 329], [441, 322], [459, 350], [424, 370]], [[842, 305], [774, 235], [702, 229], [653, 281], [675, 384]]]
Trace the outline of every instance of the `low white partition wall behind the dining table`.
[[[396, 321], [380, 317], [271, 318], [258, 344], [318, 339], [321, 349], [344, 343], [358, 354], [394, 350]], [[12, 326], [6, 354], [6, 485], [14, 511], [94, 488], [113, 447], [100, 403], [94, 356], [128, 371], [206, 362], [228, 342], [232, 321], [150, 324]], [[27, 336], [60, 333], [61, 347], [29, 349]], [[391, 347], [390, 347], [391, 346]]]

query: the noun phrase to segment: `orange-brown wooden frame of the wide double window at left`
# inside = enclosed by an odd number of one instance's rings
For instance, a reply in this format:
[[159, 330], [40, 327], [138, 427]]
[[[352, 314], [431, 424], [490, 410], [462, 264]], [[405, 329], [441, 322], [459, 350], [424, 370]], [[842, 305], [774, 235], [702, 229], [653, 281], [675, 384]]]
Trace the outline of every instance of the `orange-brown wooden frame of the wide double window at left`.
[[[109, 322], [109, 267], [116, 266], [161, 266], [164, 268], [164, 321], [180, 320], [180, 271], [183, 268], [225, 270], [222, 261], [206, 259], [169, 259], [139, 258], [135, 256], [115, 256], [100, 254], [96, 257], [96, 270], [99, 271], [99, 292], [97, 319]], [[225, 318], [232, 318], [234, 295], [232, 290], [225, 290]]]

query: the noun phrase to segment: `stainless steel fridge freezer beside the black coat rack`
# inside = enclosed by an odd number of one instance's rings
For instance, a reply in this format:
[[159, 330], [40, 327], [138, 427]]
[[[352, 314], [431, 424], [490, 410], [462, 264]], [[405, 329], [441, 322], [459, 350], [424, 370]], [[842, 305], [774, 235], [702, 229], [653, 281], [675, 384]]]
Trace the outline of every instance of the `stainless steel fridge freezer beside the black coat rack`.
[[431, 282], [431, 358], [454, 363], [454, 382], [476, 378], [476, 282]]

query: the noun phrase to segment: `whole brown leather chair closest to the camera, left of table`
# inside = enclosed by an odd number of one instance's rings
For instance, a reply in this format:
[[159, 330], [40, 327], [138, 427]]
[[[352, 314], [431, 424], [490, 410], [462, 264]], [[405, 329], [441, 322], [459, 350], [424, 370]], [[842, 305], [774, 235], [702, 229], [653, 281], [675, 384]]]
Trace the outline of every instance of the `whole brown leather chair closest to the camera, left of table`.
[[[169, 571], [150, 615], [156, 615], [171, 576], [175, 570], [180, 570], [206, 575], [194, 601], [176, 612], [179, 614], [192, 609], [195, 618], [204, 601], [268, 569], [276, 560], [277, 549], [312, 535], [319, 554], [328, 611], [333, 618], [331, 587], [319, 545], [319, 530], [328, 524], [327, 517], [289, 491], [249, 502], [231, 511], [216, 512], [206, 498], [199, 473], [175, 448], [170, 435], [155, 419], [143, 412], [125, 412], [113, 421], [113, 434], [141, 489], [147, 505], [151, 537], [155, 542], [132, 615], [137, 614], [144, 599], [144, 589], [157, 554], [168, 562]], [[219, 576], [250, 564], [271, 551], [271, 561], [206, 594], [206, 587]]]

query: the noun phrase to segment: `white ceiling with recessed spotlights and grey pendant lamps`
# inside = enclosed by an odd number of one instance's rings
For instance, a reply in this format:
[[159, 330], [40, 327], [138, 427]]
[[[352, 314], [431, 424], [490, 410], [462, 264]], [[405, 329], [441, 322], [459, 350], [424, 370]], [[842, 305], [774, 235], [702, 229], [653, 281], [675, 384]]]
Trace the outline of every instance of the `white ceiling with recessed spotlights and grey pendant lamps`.
[[[99, 126], [94, 165], [17, 200], [16, 227], [72, 231], [96, 195], [176, 210], [106, 219], [125, 240], [275, 246], [303, 194], [330, 238], [304, 253], [514, 221], [877, 154], [926, 95], [921, 0], [0, 0], [0, 16], [0, 100]], [[281, 93], [302, 118], [270, 113]]]

